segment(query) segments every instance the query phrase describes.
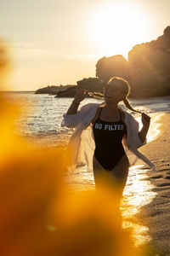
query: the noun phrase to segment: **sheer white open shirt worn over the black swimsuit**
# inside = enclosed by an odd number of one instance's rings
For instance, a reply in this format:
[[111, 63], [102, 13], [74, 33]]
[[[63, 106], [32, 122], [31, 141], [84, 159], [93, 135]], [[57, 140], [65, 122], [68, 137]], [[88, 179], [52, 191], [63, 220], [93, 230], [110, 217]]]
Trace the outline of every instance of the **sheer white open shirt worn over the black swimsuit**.
[[[88, 103], [82, 106], [82, 108], [75, 114], [63, 114], [61, 126], [76, 128], [69, 142], [69, 146], [72, 148], [72, 163], [69, 167], [71, 172], [74, 172], [77, 166], [77, 160], [87, 164], [87, 172], [93, 172], [95, 143], [93, 129], [90, 123], [95, 116], [97, 108], [102, 104]], [[123, 146], [125, 150], [130, 150], [130, 152], [155, 170], [155, 166], [150, 160], [138, 151], [138, 148], [146, 143], [146, 140], [142, 143], [139, 139], [139, 123], [130, 113], [127, 113], [126, 111], [123, 111], [123, 113], [125, 114], [124, 121], [127, 125], [127, 136], [123, 137]]]

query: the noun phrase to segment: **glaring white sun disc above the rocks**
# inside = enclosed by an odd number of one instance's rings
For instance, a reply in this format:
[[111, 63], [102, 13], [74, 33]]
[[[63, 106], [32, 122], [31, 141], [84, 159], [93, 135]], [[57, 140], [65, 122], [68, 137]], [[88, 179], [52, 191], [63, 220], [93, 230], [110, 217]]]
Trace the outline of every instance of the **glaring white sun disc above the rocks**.
[[88, 41], [100, 55], [122, 54], [147, 41], [149, 21], [141, 9], [130, 4], [100, 6], [88, 16]]

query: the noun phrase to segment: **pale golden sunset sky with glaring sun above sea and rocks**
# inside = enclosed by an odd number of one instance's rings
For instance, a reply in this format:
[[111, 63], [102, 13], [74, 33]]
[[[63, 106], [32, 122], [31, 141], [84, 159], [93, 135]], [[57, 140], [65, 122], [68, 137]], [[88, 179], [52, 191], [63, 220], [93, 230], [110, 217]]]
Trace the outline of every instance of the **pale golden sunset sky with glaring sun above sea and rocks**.
[[0, 0], [0, 38], [13, 69], [6, 90], [95, 77], [103, 56], [127, 58], [170, 26], [169, 0]]

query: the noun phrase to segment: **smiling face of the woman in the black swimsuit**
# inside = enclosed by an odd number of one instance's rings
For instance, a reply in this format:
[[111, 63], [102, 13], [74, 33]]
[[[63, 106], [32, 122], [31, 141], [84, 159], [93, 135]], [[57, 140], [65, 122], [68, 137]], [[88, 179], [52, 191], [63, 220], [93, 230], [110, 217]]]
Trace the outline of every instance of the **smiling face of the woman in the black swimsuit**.
[[121, 102], [125, 93], [120, 84], [106, 84], [104, 87], [104, 97], [106, 103]]

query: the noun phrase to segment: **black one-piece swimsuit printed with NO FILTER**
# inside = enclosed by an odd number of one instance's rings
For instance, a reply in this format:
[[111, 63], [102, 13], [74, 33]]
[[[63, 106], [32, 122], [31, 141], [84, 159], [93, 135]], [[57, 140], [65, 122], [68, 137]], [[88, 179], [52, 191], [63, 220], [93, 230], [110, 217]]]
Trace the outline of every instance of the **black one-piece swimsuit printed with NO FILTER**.
[[[102, 108], [99, 110], [99, 116]], [[120, 110], [119, 110], [120, 111]], [[105, 170], [111, 171], [125, 154], [122, 137], [126, 134], [126, 126], [121, 119], [106, 122], [99, 117], [93, 125], [95, 150], [94, 156]]]

